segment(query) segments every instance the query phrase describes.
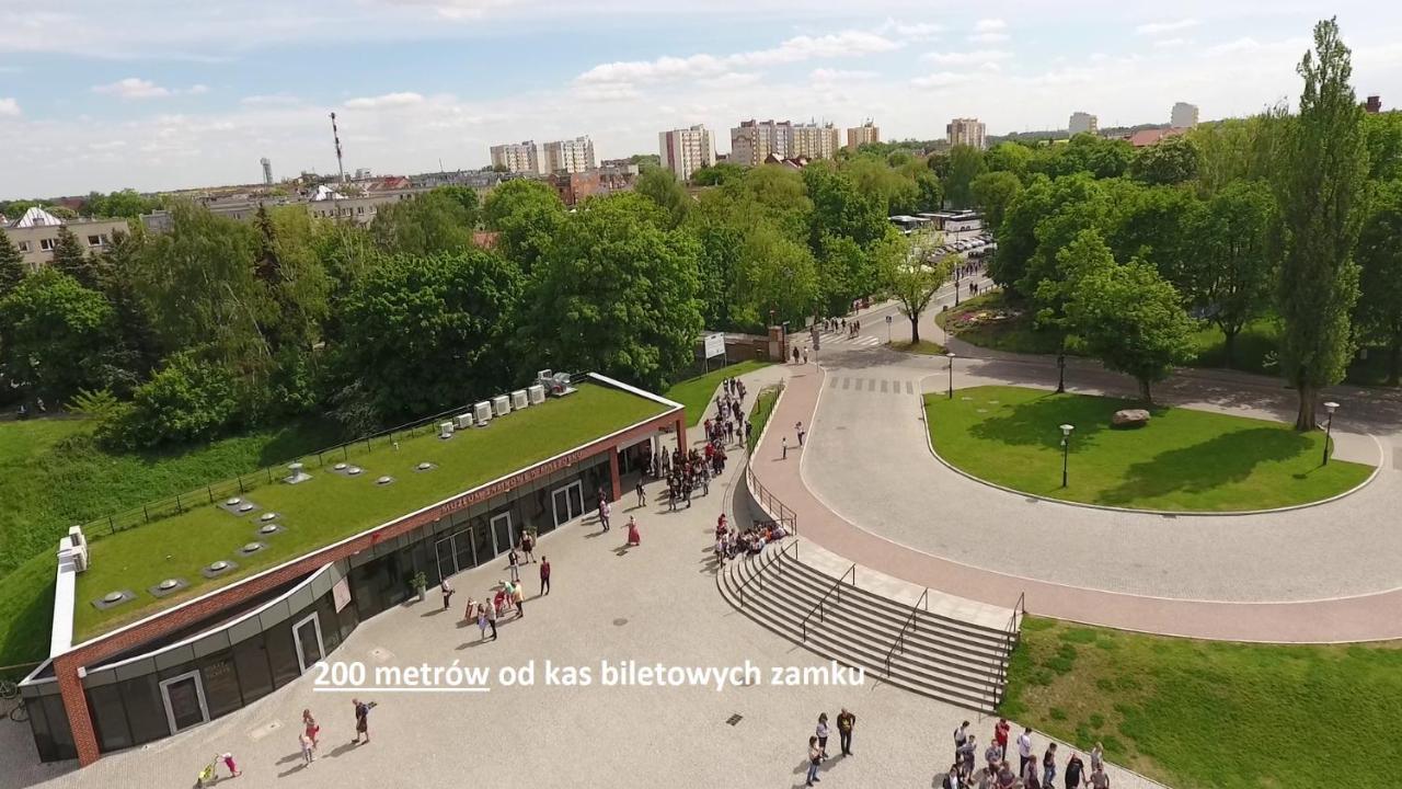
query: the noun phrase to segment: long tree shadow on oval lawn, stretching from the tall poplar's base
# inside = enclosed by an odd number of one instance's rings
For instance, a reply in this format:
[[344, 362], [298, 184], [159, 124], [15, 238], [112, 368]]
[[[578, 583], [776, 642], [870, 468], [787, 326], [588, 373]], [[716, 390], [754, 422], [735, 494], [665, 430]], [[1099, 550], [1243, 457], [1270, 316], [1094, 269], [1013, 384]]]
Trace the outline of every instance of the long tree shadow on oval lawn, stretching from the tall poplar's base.
[[1244, 482], [1259, 463], [1288, 460], [1308, 446], [1308, 437], [1288, 430], [1255, 427], [1224, 432], [1131, 465], [1124, 470], [1124, 482], [1102, 493], [1096, 503], [1130, 505], [1171, 493], [1204, 493]]

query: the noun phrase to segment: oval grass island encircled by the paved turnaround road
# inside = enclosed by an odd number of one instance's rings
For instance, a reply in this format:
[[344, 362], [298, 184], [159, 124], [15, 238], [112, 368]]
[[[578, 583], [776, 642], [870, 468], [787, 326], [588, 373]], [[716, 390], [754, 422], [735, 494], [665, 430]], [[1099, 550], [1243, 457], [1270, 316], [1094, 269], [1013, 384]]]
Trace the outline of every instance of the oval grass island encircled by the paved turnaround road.
[[[1175, 407], [1150, 409], [1140, 430], [1110, 430], [1131, 400], [1054, 394], [1016, 386], [925, 394], [935, 451], [965, 472], [1014, 490], [1115, 507], [1263, 510], [1326, 498], [1361, 483], [1371, 466], [1321, 466], [1322, 432]], [[1070, 486], [1061, 487], [1060, 424], [1071, 435]]]

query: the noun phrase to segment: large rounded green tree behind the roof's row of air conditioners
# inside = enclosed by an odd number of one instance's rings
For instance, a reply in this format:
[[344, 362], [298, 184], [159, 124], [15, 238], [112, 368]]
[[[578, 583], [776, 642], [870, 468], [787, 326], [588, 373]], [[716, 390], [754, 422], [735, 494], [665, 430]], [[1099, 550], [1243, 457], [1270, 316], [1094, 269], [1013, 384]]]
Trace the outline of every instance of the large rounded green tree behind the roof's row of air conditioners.
[[691, 362], [698, 244], [656, 226], [656, 211], [625, 192], [587, 199], [565, 220], [534, 277], [526, 326], [541, 366], [656, 389]]

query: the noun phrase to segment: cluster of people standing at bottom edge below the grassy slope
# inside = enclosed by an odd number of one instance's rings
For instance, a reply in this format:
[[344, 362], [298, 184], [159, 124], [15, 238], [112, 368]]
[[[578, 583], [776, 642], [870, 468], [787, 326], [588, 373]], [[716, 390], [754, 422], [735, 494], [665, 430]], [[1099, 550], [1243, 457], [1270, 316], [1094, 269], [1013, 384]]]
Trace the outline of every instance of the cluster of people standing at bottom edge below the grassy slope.
[[[949, 765], [942, 783], [944, 789], [1056, 789], [1057, 744], [1049, 743], [1037, 760], [1032, 747], [1032, 729], [1023, 729], [1018, 736], [1018, 771], [1008, 762], [1008, 736], [1012, 726], [1000, 717], [993, 727], [993, 741], [983, 751], [984, 767], [974, 769], [979, 751], [977, 738], [969, 731], [965, 720], [955, 729], [955, 761]], [[1105, 774], [1105, 748], [1099, 743], [1091, 750], [1091, 768], [1087, 771], [1080, 754], [1073, 752], [1066, 761], [1063, 783], [1066, 789], [1109, 789], [1110, 778]]]

